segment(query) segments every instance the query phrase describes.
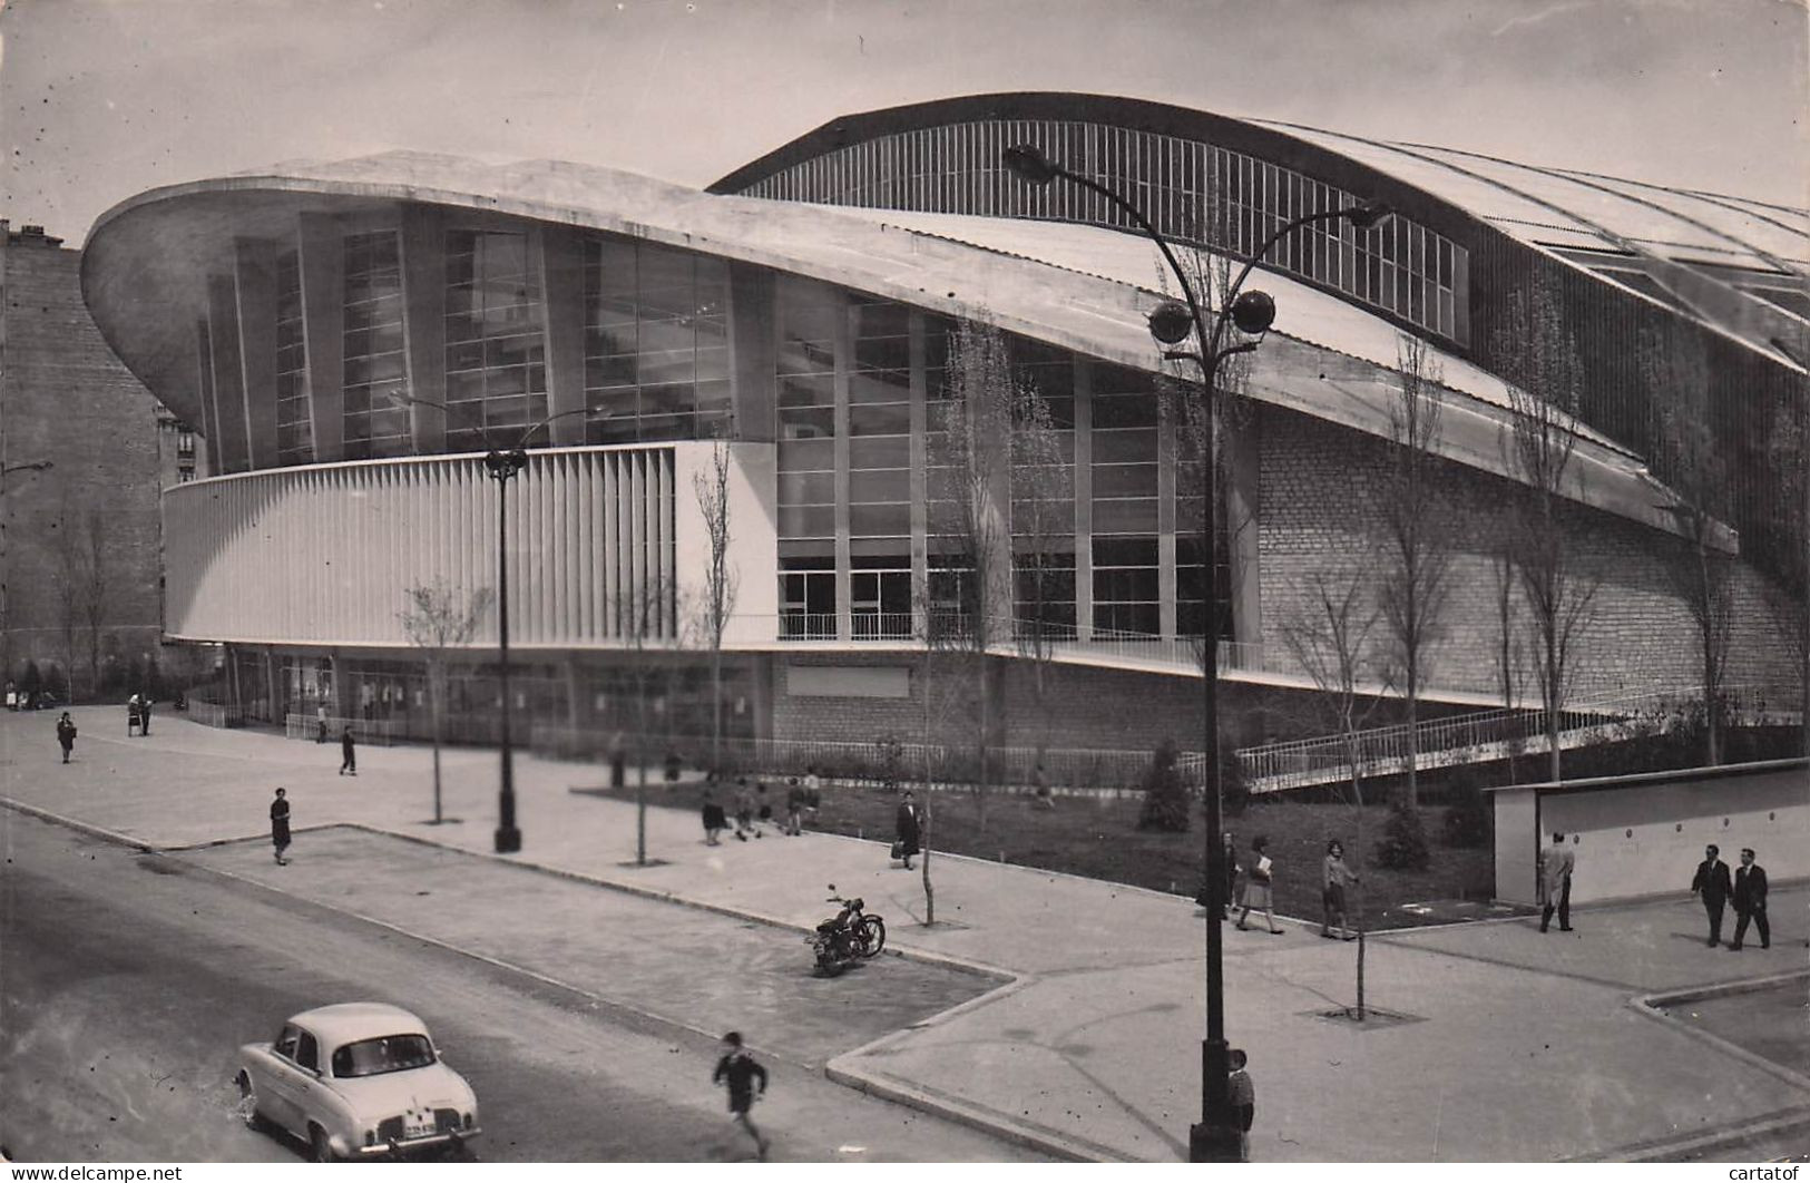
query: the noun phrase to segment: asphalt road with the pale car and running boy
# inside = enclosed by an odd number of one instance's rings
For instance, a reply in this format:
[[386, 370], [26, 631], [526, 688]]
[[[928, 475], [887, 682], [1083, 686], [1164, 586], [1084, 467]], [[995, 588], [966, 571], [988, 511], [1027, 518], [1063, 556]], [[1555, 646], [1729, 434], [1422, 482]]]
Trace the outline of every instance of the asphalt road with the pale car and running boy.
[[[295, 1161], [252, 1132], [243, 1042], [355, 998], [420, 1013], [483, 1105], [485, 1161], [751, 1156], [715, 1046], [505, 968], [0, 810], [0, 1145], [24, 1161]], [[769, 1056], [791, 1161], [1024, 1161], [977, 1131]]]

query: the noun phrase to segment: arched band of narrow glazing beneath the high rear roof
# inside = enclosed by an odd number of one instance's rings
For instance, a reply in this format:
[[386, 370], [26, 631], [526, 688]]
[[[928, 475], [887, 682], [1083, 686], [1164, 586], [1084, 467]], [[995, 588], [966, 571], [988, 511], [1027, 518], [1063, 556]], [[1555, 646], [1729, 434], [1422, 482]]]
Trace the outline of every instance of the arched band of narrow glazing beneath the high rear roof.
[[[1035, 188], [1008, 174], [1001, 154], [1023, 143], [1124, 194], [1162, 235], [1242, 257], [1301, 213], [1358, 204], [1350, 192], [1243, 152], [1070, 119], [985, 119], [878, 136], [800, 161], [744, 192], [1137, 232], [1099, 194], [1075, 185]], [[1265, 266], [1459, 344], [1470, 344], [1468, 262], [1462, 246], [1399, 213], [1376, 230], [1318, 222], [1291, 233], [1265, 257]]]

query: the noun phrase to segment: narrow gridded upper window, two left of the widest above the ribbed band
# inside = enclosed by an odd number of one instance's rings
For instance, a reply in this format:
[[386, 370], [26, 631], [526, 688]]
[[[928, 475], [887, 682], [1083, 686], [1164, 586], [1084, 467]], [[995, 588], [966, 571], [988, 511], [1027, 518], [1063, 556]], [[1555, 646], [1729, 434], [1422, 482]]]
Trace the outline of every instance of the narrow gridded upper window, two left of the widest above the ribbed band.
[[407, 456], [409, 394], [396, 233], [346, 235], [346, 459]]

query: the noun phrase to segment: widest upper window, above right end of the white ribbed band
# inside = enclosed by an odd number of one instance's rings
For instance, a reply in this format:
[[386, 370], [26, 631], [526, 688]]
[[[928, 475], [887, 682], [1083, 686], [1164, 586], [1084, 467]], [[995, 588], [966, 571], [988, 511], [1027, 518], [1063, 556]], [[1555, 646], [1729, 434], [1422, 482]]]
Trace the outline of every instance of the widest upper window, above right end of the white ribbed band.
[[726, 429], [729, 271], [632, 239], [585, 242], [585, 438], [699, 440]]

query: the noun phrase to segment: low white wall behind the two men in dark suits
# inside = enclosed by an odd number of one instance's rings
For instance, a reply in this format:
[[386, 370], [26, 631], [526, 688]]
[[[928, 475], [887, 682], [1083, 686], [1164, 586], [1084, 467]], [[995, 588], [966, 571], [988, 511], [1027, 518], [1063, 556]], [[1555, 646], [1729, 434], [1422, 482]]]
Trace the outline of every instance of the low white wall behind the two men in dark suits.
[[[1810, 877], [1810, 762], [1613, 776], [1497, 789], [1495, 890], [1535, 903], [1538, 848], [1562, 830], [1573, 903], [1683, 894], [1703, 847], [1752, 847], [1774, 879]], [[1531, 805], [1531, 809], [1529, 809]]]

